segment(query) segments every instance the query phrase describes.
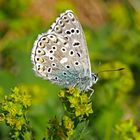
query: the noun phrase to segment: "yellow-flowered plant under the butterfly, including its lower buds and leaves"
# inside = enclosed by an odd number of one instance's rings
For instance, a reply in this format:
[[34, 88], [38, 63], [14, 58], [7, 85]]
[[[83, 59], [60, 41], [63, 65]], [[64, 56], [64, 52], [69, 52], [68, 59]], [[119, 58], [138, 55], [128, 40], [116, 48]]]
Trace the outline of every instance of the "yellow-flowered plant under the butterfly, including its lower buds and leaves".
[[93, 113], [90, 97], [74, 87], [61, 90], [58, 96], [65, 109], [64, 116], [61, 121], [50, 120], [47, 139], [79, 139], [87, 128], [89, 114]]

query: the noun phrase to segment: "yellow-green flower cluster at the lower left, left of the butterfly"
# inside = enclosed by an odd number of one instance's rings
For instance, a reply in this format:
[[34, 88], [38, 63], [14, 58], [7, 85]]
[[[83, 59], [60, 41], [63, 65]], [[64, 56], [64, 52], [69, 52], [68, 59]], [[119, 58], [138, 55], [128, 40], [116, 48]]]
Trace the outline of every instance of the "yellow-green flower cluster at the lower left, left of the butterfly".
[[14, 130], [14, 134], [11, 134], [12, 137], [18, 137], [20, 132], [27, 128], [26, 113], [30, 105], [30, 95], [24, 89], [17, 87], [1, 102], [0, 121], [5, 122]]

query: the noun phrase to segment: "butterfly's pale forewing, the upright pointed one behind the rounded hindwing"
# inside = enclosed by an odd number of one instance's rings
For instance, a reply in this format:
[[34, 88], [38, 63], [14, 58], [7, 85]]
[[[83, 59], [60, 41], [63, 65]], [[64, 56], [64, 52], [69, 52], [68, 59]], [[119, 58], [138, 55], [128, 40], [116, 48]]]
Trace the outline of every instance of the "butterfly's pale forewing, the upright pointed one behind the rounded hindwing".
[[75, 51], [75, 56], [83, 64], [85, 74], [91, 73], [87, 45], [82, 27], [71, 10], [62, 13], [51, 26], [50, 33], [61, 35], [68, 42], [68, 47]]

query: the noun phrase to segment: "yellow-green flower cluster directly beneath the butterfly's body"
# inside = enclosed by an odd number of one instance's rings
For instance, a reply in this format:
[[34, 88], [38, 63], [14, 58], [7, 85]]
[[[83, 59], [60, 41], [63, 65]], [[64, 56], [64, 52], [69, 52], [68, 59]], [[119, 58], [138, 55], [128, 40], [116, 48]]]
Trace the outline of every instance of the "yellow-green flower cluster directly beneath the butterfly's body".
[[67, 111], [73, 113], [75, 117], [88, 117], [89, 114], [93, 113], [90, 98], [78, 88], [70, 87], [68, 90], [62, 90], [59, 97], [65, 104]]

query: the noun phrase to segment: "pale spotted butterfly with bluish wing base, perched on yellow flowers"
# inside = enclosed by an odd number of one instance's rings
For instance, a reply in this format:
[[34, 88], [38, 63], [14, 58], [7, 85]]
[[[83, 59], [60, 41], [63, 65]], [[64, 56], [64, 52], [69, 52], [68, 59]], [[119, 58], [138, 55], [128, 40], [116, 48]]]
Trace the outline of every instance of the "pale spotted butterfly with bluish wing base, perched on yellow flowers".
[[46, 33], [38, 35], [31, 54], [35, 73], [52, 83], [88, 91], [98, 81], [91, 65], [83, 29], [73, 11], [66, 10]]

